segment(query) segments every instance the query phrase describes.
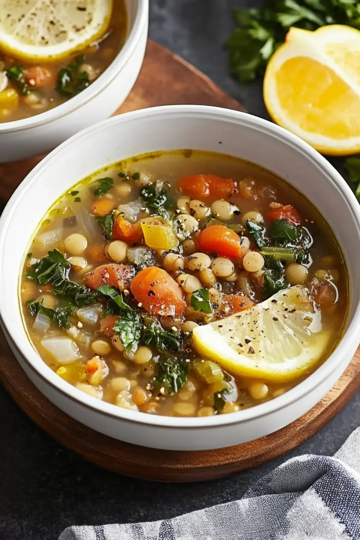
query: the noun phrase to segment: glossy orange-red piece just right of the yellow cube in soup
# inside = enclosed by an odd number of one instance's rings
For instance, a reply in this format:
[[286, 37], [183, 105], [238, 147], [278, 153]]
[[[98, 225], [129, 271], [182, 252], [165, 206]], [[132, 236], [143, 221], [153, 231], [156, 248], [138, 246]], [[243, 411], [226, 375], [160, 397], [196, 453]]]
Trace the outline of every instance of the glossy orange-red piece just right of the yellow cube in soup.
[[225, 225], [210, 225], [199, 234], [198, 249], [235, 260], [241, 254], [240, 238]]

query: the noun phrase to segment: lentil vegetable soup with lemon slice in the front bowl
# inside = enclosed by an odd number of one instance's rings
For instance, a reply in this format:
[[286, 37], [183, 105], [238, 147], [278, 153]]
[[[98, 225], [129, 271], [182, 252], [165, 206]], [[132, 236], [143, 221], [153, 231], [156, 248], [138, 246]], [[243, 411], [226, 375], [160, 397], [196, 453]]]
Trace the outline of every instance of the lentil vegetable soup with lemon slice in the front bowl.
[[316, 208], [222, 154], [121, 161], [63, 195], [21, 275], [44, 362], [118, 407], [231, 413], [274, 399], [334, 349], [347, 271]]

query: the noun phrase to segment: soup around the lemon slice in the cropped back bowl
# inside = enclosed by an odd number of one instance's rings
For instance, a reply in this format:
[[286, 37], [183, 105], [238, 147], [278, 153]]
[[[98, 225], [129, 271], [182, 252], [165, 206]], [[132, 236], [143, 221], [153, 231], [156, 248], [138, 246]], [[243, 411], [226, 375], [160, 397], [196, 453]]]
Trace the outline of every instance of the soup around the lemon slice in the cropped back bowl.
[[124, 0], [116, 0], [105, 35], [81, 54], [37, 64], [8, 56], [0, 44], [0, 122], [48, 111], [85, 90], [117, 56], [126, 31]]

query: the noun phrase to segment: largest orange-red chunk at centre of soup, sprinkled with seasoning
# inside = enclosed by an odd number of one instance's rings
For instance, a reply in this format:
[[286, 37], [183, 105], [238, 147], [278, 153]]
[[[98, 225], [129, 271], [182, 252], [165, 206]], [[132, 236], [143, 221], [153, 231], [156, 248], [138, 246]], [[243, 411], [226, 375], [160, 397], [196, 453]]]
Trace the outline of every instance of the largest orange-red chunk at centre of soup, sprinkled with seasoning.
[[144, 268], [131, 282], [131, 292], [146, 311], [155, 315], [179, 317], [186, 303], [176, 281], [162, 268]]

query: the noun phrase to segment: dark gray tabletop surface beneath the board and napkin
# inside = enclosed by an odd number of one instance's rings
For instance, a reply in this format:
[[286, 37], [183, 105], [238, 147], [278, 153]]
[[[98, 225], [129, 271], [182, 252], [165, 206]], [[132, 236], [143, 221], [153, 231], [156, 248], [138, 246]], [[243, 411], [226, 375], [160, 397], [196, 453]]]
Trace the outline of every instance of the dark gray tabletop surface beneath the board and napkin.
[[[261, 85], [242, 86], [227, 73], [222, 43], [230, 9], [255, 0], [150, 0], [150, 36], [212, 77], [249, 112], [266, 117]], [[72, 524], [173, 517], [239, 498], [287, 458], [333, 454], [360, 424], [360, 393], [311, 440], [257, 469], [199, 484], [157, 484], [116, 476], [60, 447], [0, 387], [0, 539], [55, 540]]]

